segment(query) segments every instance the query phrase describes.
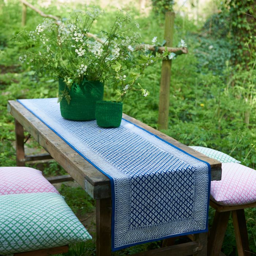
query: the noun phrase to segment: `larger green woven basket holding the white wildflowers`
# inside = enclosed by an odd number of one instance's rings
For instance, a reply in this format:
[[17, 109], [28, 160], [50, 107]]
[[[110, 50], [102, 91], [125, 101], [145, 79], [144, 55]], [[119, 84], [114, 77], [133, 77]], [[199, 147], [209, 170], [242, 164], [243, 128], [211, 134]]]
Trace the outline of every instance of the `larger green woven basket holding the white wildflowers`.
[[[59, 78], [59, 93], [61, 94], [64, 89], [65, 83]], [[104, 84], [99, 81], [84, 80], [81, 84], [74, 83], [68, 91], [70, 103], [68, 104], [65, 99], [60, 102], [61, 116], [69, 120], [94, 120], [96, 101], [102, 100], [103, 91]]]

